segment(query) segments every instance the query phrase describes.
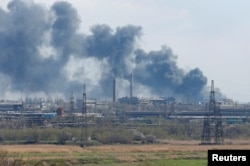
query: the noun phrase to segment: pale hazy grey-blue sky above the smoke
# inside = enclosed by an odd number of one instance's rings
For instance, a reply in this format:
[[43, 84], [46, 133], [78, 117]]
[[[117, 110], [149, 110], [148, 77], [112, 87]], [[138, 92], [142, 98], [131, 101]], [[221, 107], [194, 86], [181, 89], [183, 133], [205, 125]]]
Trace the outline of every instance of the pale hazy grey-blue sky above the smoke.
[[[6, 9], [9, 0], [0, 0]], [[34, 0], [48, 7], [54, 0]], [[95, 24], [142, 27], [145, 50], [172, 48], [183, 69], [198, 67], [228, 98], [250, 101], [250, 1], [248, 0], [68, 0], [81, 30]]]

